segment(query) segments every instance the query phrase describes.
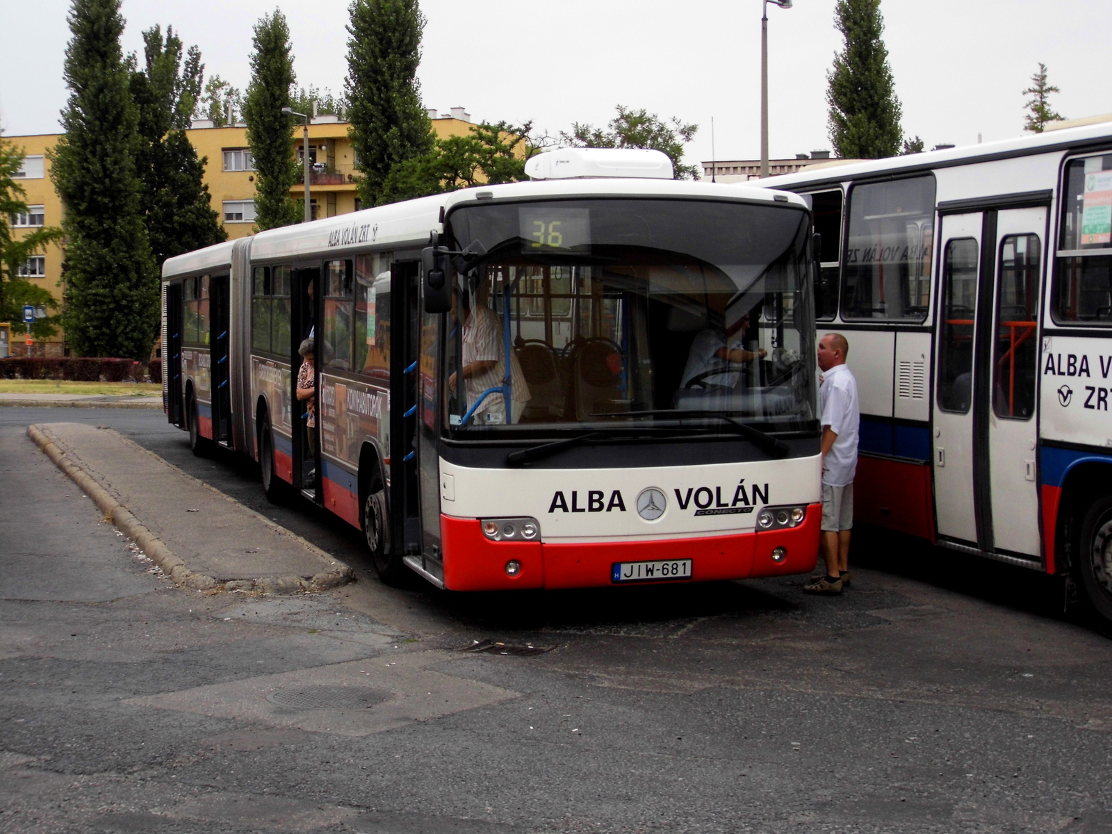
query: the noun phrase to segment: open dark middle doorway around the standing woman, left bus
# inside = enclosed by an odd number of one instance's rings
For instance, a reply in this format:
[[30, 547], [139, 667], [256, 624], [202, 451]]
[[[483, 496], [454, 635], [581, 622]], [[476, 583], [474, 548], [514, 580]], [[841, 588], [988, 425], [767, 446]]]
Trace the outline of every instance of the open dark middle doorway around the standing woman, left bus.
[[[310, 335], [317, 344], [315, 348], [314, 366], [316, 375], [314, 385], [319, 390], [320, 361], [326, 346], [322, 342], [320, 328], [320, 297], [321, 297], [320, 267], [295, 267], [291, 275], [290, 287], [290, 391], [288, 394], [290, 407], [290, 423], [294, 428], [294, 486], [299, 488], [301, 495], [311, 502], [320, 504], [322, 492], [320, 489], [320, 440], [318, 430], [309, 430], [309, 413], [306, 403], [297, 398], [297, 377], [301, 370], [301, 355], [298, 349], [301, 341]], [[320, 406], [317, 405], [317, 419], [315, 420], [319, 429]], [[314, 441], [310, 443], [310, 439]]]

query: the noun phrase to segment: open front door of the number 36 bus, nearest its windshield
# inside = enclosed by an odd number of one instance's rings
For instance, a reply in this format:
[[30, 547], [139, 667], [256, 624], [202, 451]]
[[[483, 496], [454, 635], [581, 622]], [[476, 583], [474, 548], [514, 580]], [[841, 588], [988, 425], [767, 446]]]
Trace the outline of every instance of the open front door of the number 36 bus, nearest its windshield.
[[[417, 479], [418, 261], [390, 266], [390, 548], [421, 553]], [[430, 507], [439, 519], [439, 505]]]

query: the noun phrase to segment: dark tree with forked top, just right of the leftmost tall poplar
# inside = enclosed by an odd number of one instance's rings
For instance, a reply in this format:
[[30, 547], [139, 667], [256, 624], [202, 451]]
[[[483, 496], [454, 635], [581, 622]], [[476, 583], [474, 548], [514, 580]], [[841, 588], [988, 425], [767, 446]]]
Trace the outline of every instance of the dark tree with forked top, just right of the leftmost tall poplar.
[[227, 240], [211, 207], [205, 163], [186, 138], [201, 93], [205, 64], [190, 47], [182, 66], [181, 39], [172, 28], [143, 32], [145, 64], [129, 58], [131, 93], [139, 108], [140, 148], [136, 167], [142, 179], [147, 237], [155, 262]]

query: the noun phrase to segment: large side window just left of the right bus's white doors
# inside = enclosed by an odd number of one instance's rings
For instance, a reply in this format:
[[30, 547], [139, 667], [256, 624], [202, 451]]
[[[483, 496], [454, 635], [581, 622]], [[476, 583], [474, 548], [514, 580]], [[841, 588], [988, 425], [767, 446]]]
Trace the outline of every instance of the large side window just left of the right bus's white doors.
[[842, 317], [926, 318], [933, 245], [933, 177], [856, 186], [850, 192]]

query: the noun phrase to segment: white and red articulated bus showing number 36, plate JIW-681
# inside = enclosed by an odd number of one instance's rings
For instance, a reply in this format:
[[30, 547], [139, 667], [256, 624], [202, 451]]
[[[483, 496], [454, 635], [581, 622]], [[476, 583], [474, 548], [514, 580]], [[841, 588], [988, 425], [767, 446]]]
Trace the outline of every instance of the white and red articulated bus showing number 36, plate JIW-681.
[[[528, 165], [167, 260], [170, 423], [361, 528], [386, 582], [813, 569], [805, 200], [673, 180], [656, 151]], [[315, 433], [295, 391], [310, 336]]]

